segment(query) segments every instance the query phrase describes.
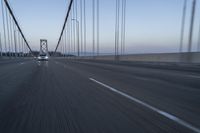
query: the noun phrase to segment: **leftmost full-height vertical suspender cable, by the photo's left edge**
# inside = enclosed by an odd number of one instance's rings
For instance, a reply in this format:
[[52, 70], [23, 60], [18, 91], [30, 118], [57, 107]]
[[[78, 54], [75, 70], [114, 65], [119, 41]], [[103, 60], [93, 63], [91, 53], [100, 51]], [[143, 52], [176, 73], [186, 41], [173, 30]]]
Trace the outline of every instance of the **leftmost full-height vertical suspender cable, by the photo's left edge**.
[[[3, 3], [3, 0], [1, 0], [1, 7], [2, 7], [2, 21], [3, 21], [3, 34], [4, 34], [4, 50], [5, 50], [5, 53], [7, 52], [7, 41], [6, 41], [6, 26], [5, 26], [5, 14], [4, 14], [4, 3]], [[2, 46], [3, 47], [3, 46]]]

